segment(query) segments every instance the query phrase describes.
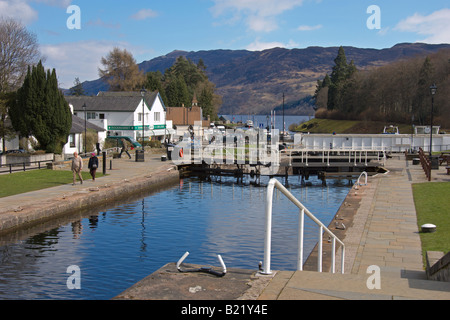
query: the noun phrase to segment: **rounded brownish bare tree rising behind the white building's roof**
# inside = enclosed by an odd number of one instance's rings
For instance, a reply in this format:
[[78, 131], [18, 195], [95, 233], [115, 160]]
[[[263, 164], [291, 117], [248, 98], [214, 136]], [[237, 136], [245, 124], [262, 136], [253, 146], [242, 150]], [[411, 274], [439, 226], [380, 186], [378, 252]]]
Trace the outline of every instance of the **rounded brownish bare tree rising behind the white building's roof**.
[[144, 73], [126, 49], [114, 48], [101, 63], [104, 69], [98, 69], [99, 76], [106, 79], [111, 91], [133, 91], [145, 81]]

